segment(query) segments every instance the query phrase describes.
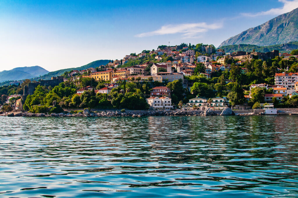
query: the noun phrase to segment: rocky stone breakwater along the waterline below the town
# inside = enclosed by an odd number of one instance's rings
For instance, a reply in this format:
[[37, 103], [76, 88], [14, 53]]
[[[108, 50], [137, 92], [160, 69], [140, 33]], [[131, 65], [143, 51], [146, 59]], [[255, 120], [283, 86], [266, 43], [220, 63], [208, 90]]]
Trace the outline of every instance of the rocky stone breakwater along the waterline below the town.
[[229, 115], [255, 115], [253, 113], [235, 114], [232, 109], [225, 108], [222, 111], [213, 111], [208, 108], [205, 111], [102, 111], [90, 112], [85, 109], [83, 112], [72, 113], [51, 113], [51, 114], [34, 114], [30, 112], [10, 113], [8, 117], [142, 117], [142, 116], [229, 116]]

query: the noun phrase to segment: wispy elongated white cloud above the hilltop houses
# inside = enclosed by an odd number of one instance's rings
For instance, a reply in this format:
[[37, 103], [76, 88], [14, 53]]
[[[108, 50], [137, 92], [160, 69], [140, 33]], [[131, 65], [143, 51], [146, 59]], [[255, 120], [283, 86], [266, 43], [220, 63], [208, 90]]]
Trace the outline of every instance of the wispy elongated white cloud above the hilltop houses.
[[146, 37], [164, 34], [182, 33], [184, 38], [195, 38], [198, 33], [207, 32], [208, 30], [215, 30], [221, 28], [222, 24], [206, 24], [203, 23], [187, 23], [177, 25], [164, 25], [159, 30], [146, 32], [135, 35], [136, 37]]

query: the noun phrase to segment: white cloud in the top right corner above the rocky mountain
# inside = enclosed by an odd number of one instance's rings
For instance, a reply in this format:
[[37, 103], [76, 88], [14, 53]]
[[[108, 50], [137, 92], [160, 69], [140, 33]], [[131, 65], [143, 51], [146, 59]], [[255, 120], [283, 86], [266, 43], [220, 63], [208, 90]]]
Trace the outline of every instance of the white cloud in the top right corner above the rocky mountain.
[[284, 13], [291, 12], [292, 10], [296, 9], [298, 7], [298, 0], [278, 0], [283, 3], [283, 7], [280, 8], [272, 8], [268, 11], [263, 11], [259, 13], [242, 13], [243, 16], [262, 16], [262, 15], [281, 15]]

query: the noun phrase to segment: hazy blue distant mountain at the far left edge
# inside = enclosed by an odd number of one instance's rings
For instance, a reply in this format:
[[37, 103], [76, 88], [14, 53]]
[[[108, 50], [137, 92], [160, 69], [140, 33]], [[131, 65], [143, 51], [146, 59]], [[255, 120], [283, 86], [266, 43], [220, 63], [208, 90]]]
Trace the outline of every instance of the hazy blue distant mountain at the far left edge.
[[45, 70], [40, 66], [32, 66], [32, 67], [16, 67], [11, 70], [4, 70], [0, 72], [0, 82], [4, 82], [7, 80], [19, 80], [26, 78], [34, 78], [40, 75], [44, 75], [49, 71]]

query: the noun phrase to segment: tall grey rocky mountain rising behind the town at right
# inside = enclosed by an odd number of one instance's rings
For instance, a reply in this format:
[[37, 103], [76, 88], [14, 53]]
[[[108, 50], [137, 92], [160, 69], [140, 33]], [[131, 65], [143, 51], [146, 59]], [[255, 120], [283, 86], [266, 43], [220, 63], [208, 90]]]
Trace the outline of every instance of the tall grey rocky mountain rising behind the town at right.
[[249, 28], [222, 42], [219, 47], [235, 44], [269, 46], [291, 41], [298, 41], [298, 8], [262, 25]]

